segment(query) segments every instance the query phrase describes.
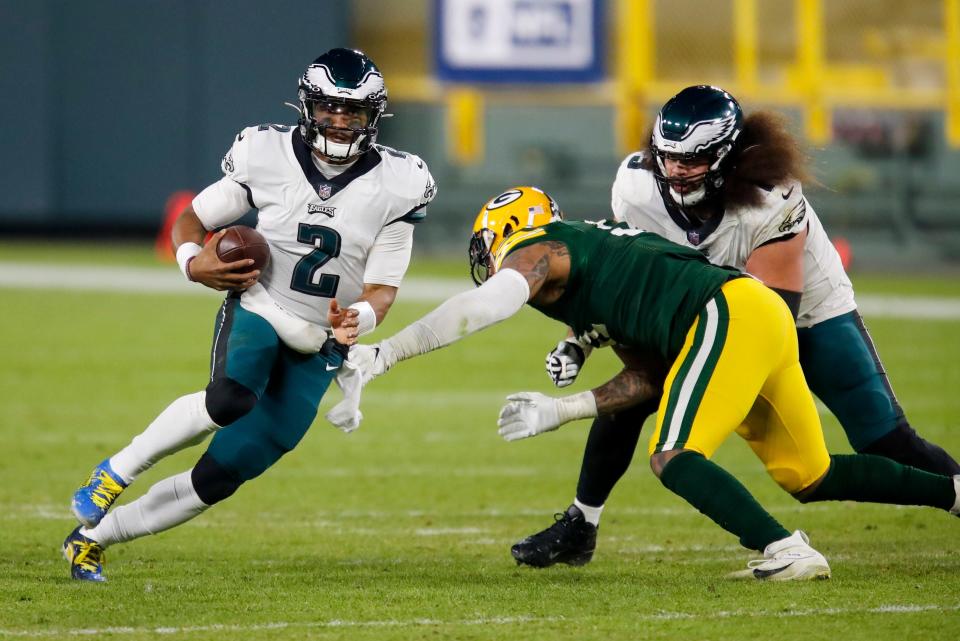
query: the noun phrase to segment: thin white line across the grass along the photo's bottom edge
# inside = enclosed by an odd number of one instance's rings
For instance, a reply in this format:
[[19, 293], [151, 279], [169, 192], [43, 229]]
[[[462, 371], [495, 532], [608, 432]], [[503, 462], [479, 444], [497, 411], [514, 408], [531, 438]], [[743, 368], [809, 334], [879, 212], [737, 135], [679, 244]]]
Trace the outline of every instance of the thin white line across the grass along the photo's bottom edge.
[[[802, 610], [719, 610], [717, 612], [670, 612], [661, 611], [650, 614], [636, 614], [629, 618], [633, 621], [672, 621], [672, 620], [715, 620], [715, 619], [787, 619], [805, 617], [845, 616], [850, 614], [918, 614], [924, 612], [956, 612], [960, 605], [916, 605], [912, 603], [894, 603], [874, 608], [809, 608]], [[259, 630], [298, 630], [324, 628], [418, 628], [418, 627], [457, 627], [457, 626], [486, 626], [486, 625], [525, 625], [574, 623], [578, 620], [588, 620], [587, 617], [481, 617], [476, 619], [459, 619], [444, 621], [441, 619], [386, 619], [381, 621], [348, 621], [333, 619], [330, 621], [277, 621], [273, 623], [242, 624], [213, 624], [197, 626], [171, 627], [106, 627], [106, 628], [62, 628], [57, 630], [16, 630], [0, 628], [0, 637], [19, 638], [64, 638], [99, 636], [102, 634], [155, 634], [164, 636], [170, 634], [189, 634], [192, 632], [256, 632]]]

